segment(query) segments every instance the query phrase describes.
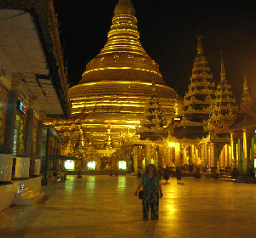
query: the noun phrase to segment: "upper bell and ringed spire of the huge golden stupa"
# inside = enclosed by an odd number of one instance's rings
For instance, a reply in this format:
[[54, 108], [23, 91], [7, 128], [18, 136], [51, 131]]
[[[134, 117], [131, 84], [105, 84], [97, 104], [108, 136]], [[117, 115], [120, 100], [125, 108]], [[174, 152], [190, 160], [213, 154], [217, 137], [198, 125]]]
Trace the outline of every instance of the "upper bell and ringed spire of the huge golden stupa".
[[135, 9], [130, 0], [119, 0], [113, 11], [108, 42], [96, 58], [90, 60], [79, 84], [99, 81], [154, 81], [166, 85], [159, 65], [151, 59], [139, 41]]

